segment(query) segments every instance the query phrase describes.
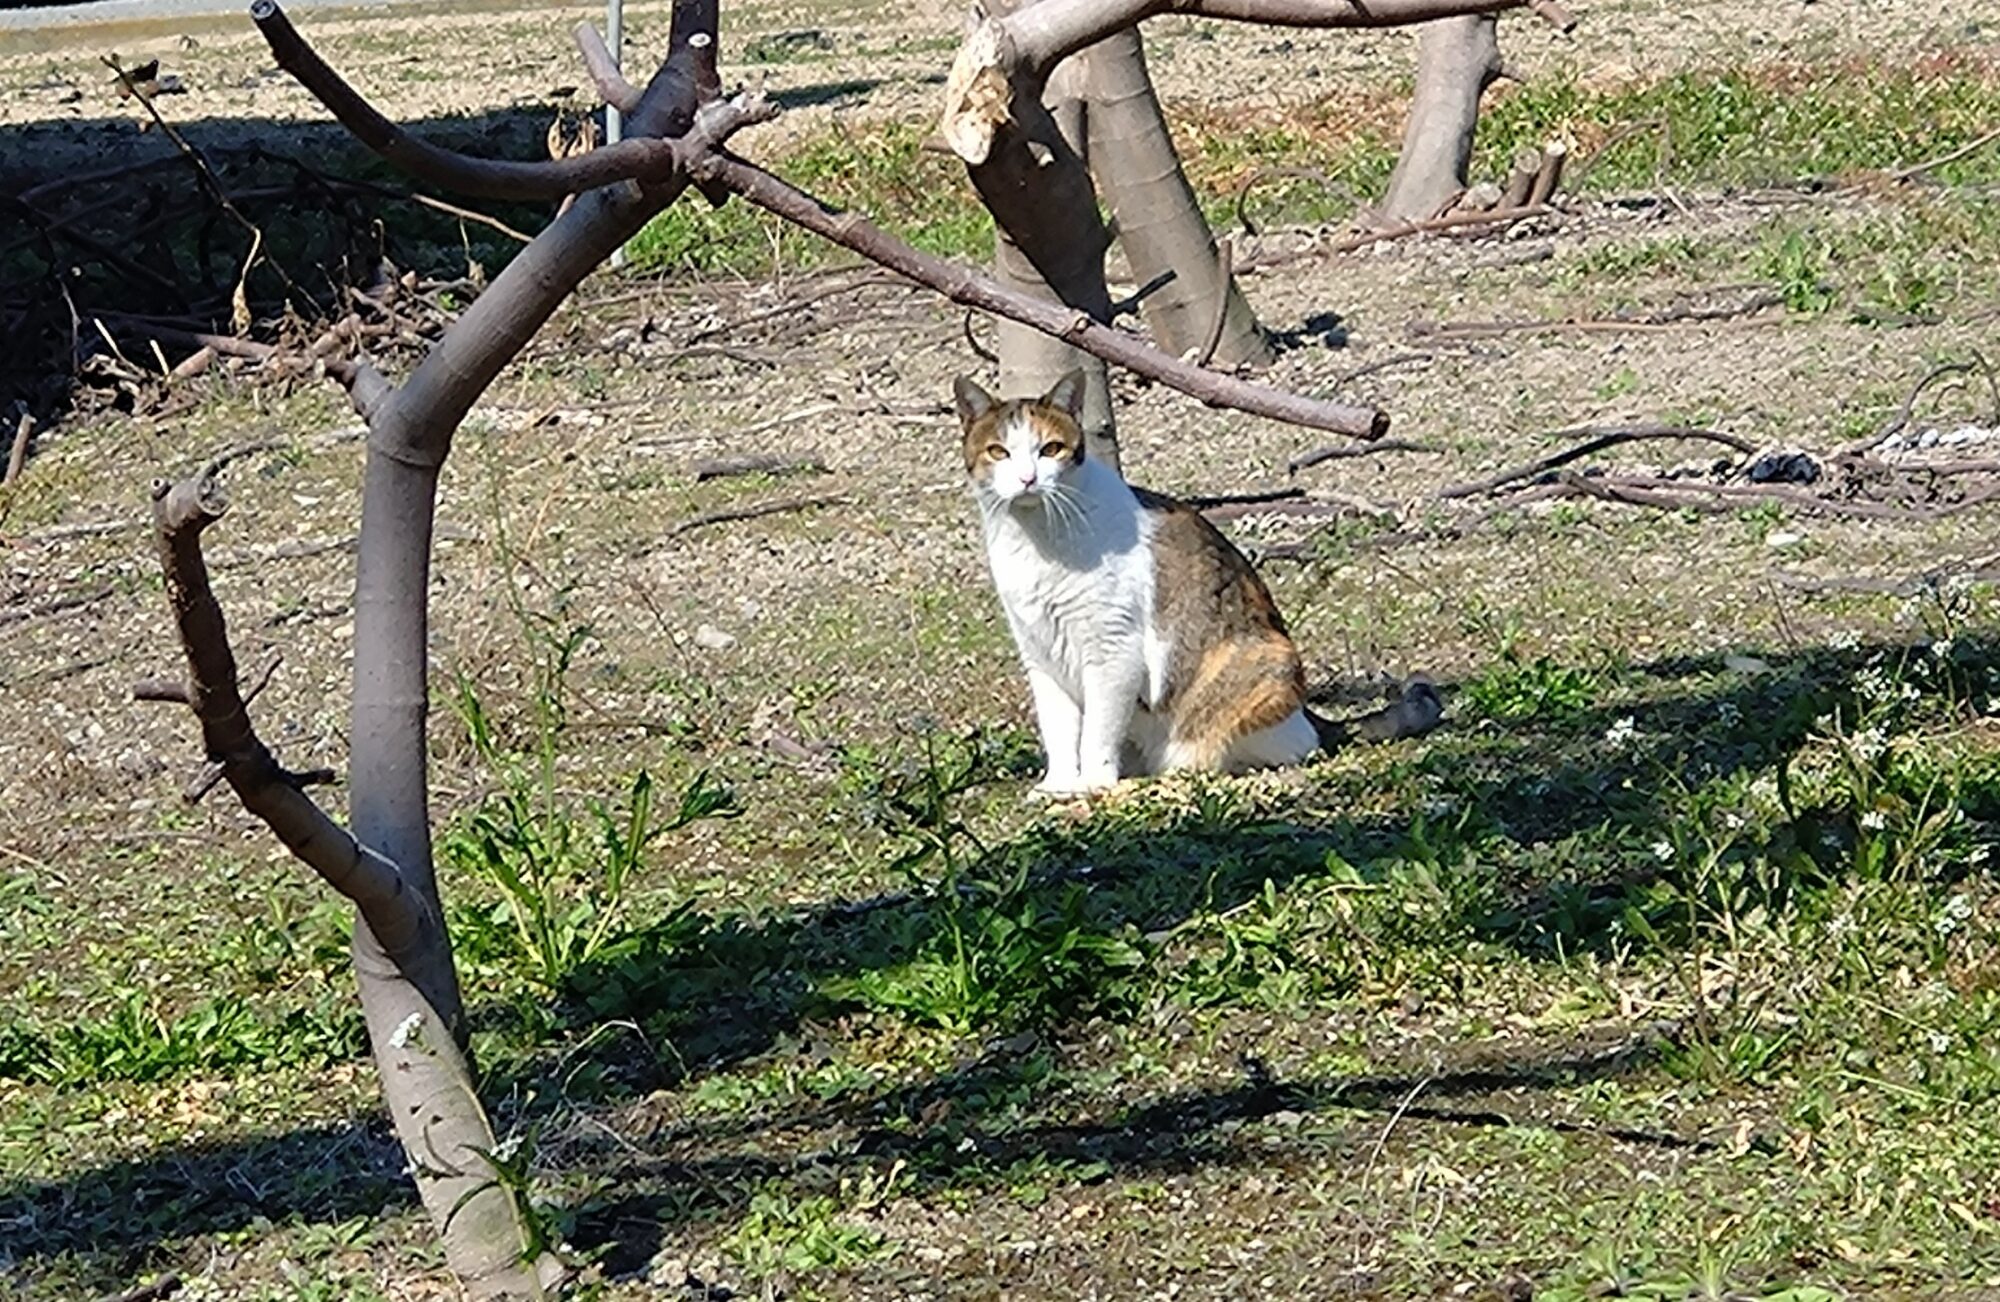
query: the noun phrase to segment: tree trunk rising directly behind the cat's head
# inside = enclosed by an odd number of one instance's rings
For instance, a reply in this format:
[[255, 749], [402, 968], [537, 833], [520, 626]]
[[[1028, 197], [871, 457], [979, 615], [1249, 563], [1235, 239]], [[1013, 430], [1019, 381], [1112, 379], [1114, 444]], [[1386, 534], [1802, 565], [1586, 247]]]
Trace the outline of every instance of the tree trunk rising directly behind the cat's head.
[[[1006, 16], [1022, 8], [1022, 0], [990, 0], [988, 8]], [[986, 148], [954, 148], [966, 158], [972, 188], [994, 218], [994, 278], [1010, 290], [1054, 298], [1090, 320], [1110, 322], [1112, 294], [1104, 284], [1110, 234], [1084, 162], [1088, 134], [1080, 80], [1074, 64], [1062, 64], [1046, 88], [1032, 78], [1006, 86], [1008, 102], [986, 124]], [[948, 116], [946, 138], [950, 134]], [[1104, 362], [1014, 322], [1000, 322], [996, 330], [1004, 396], [1044, 394], [1066, 372], [1082, 368], [1084, 446], [1090, 456], [1120, 470]]]

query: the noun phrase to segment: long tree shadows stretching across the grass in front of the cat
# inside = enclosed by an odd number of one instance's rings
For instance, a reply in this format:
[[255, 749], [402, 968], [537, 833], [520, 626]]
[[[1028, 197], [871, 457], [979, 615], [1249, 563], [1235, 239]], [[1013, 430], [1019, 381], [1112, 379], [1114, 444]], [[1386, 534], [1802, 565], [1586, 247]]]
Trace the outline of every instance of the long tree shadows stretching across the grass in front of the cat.
[[[1962, 690], [1960, 698], [1990, 696], [2000, 682], [1994, 676], [2000, 648], [1992, 640], [1958, 642], [1954, 690]], [[1232, 1132], [1278, 1112], [1398, 1108], [1450, 1124], [1512, 1124], [1516, 1118], [1480, 1098], [1634, 1072], [1670, 1042], [1672, 1030], [1530, 1054], [1508, 1044], [1486, 1060], [1458, 1054], [1458, 1062], [1422, 1078], [1422, 1102], [1410, 1098], [1418, 1078], [1278, 1080], [1248, 1062], [1234, 1086], [1132, 1106], [1104, 1100], [1102, 1122], [1018, 1124], [1016, 1118], [1032, 1114], [1032, 1104], [1052, 1088], [1052, 1046], [1060, 1050], [1064, 1036], [1078, 1034], [1088, 1018], [1118, 1016], [1124, 1008], [1116, 990], [1128, 978], [1124, 968], [1076, 960], [1078, 952], [1098, 942], [1148, 948], [1188, 920], [1216, 918], [1336, 866], [1374, 886], [1394, 884], [1410, 864], [1424, 866], [1436, 896], [1432, 914], [1396, 940], [1412, 950], [1454, 948], [1470, 936], [1556, 960], [1610, 944], [1630, 892], [1664, 870], [1650, 844], [1678, 816], [1688, 792], [1772, 770], [1798, 752], [1818, 720], [1852, 708], [1858, 672], [1904, 654], [1912, 648], [1680, 658], [1626, 672], [1622, 704], [1610, 706], [1584, 692], [1566, 700], [1536, 696], [1534, 674], [1522, 670], [1526, 678], [1518, 684], [1494, 678], [1464, 684], [1462, 700], [1478, 696], [1490, 708], [1498, 702], [1520, 710], [1526, 706], [1506, 702], [1530, 700], [1534, 710], [1526, 716], [1458, 726], [1366, 774], [1314, 778], [1298, 808], [1282, 818], [1246, 810], [1228, 798], [1228, 784], [1216, 784], [1168, 812], [1098, 814], [1068, 830], [1042, 828], [984, 856], [968, 850], [960, 870], [968, 890], [960, 894], [830, 902], [758, 922], [688, 914], [680, 930], [662, 932], [660, 944], [628, 950], [578, 982], [578, 990], [606, 996], [594, 1008], [576, 1002], [566, 1014], [570, 1030], [586, 1036], [582, 1048], [500, 1064], [488, 1096], [530, 1100], [506, 1118], [512, 1124], [550, 1120], [576, 1108], [578, 1098], [586, 1106], [608, 1104], [774, 1050], [792, 1052], [824, 1038], [830, 1020], [856, 1004], [884, 1006], [882, 992], [894, 986], [870, 994], [870, 978], [900, 972], [896, 980], [908, 984], [914, 964], [940, 954], [940, 936], [952, 928], [964, 932], [966, 920], [984, 908], [984, 918], [998, 914], [1004, 926], [978, 932], [980, 944], [1018, 940], [1020, 916], [1050, 920], [1046, 934], [1028, 938], [1030, 970], [998, 968], [1002, 986], [1016, 982], [1018, 1004], [972, 1006], [966, 1016], [970, 1032], [1006, 1038], [918, 1082], [886, 1088], [860, 1082], [832, 1090], [824, 1104], [740, 1108], [646, 1136], [648, 1144], [670, 1140], [698, 1156], [656, 1160], [626, 1144], [616, 1152], [578, 1150], [570, 1156], [602, 1166], [604, 1186], [614, 1192], [582, 1208], [576, 1242], [604, 1248], [614, 1268], [636, 1268], [656, 1246], [662, 1222], [728, 1216], [772, 1180], [818, 1188], [860, 1162], [900, 1158], [914, 1188], [942, 1190], [976, 1184], [1028, 1156], [1104, 1172], [1254, 1162], [1268, 1148], [1244, 1148]], [[968, 780], [1012, 774], [1022, 758], [1008, 748], [970, 756]], [[950, 840], [960, 834], [950, 830], [954, 798], [940, 796], [936, 768], [936, 756], [890, 766], [862, 784], [862, 798], [900, 818], [898, 826], [916, 842], [926, 834]], [[1344, 784], [1354, 790], [1342, 790]], [[1378, 814], [1316, 812], [1330, 788], [1336, 798], [1388, 792], [1394, 800]], [[1974, 792], [1970, 812], [2000, 818], [1994, 792]], [[1596, 850], [1582, 874], [1554, 854], [1578, 838], [1590, 838]], [[924, 866], [936, 868], [930, 860]], [[980, 886], [982, 876], [1002, 884]], [[1050, 980], [1064, 962], [1074, 966], [1074, 980]], [[924, 1016], [922, 1004], [900, 1008]], [[938, 1008], [952, 1010], [948, 1000]], [[504, 1024], [518, 1012], [488, 1006], [482, 1016]], [[644, 1040], [588, 1034], [612, 1020], [644, 1028]], [[968, 1042], [978, 1040], [968, 1036]], [[636, 1044], [672, 1048], [634, 1052]], [[1074, 1092], [1074, 1082], [1062, 1088]], [[766, 1132], [822, 1126], [850, 1138], [790, 1156], [722, 1150], [732, 1138], [756, 1148]], [[1604, 1134], [1620, 1142], [1702, 1146], [1686, 1136]], [[256, 1218], [318, 1222], [404, 1206], [408, 1194], [394, 1178], [394, 1154], [384, 1158], [384, 1148], [380, 1132], [360, 1122], [278, 1140], [170, 1148], [58, 1180], [0, 1186], [0, 1224], [14, 1228], [10, 1250], [30, 1268], [62, 1260], [74, 1268], [82, 1260], [98, 1278], [114, 1278], [172, 1240], [240, 1230]], [[356, 1160], [364, 1178], [352, 1182]], [[334, 1186], [338, 1194], [328, 1194]]]

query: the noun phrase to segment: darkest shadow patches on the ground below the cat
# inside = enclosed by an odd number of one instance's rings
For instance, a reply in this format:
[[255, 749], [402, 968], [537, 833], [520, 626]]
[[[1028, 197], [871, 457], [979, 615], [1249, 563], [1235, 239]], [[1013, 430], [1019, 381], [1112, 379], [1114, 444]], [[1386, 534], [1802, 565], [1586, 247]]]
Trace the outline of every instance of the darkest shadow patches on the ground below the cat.
[[[1956, 664], [1990, 692], [2000, 648], [1960, 638]], [[1660, 834], [1672, 790], [1696, 788], [1732, 774], [1764, 772], [1794, 754], [1830, 712], [1852, 704], [1854, 676], [1864, 666], [1902, 654], [1902, 646], [1810, 648], [1760, 656], [1700, 656], [1642, 664], [1628, 682], [1640, 690], [1630, 704], [1560, 710], [1498, 726], [1462, 724], [1420, 748], [1404, 764], [1450, 792], [1456, 826], [1482, 836], [1536, 846], [1566, 836], [1602, 836], [1610, 844], [1644, 844]], [[1022, 768], [1018, 748], [972, 760], [978, 780], [1000, 780]], [[934, 766], [930, 766], [934, 768]], [[918, 776], [924, 766], [890, 768], [876, 790], [860, 798], [884, 808], [924, 808], [936, 796]], [[934, 784], [932, 784], [934, 786]], [[1992, 804], [1986, 792], [1978, 800]], [[1972, 810], [2000, 818], [2000, 808]], [[1284, 888], [1328, 870], [1330, 856], [1370, 876], [1404, 862], [1424, 836], [1428, 818], [1444, 814], [1398, 810], [1380, 816], [1244, 818], [1234, 806], [1212, 812], [1116, 826], [1092, 820], [1076, 832], [1038, 832], [1026, 842], [994, 848], [1012, 864], [1010, 908], [1026, 902], [1062, 914], [1066, 926], [1096, 936], [1160, 934], [1204, 910], [1220, 912], [1268, 888]], [[1532, 876], [1468, 894], [1464, 916], [1452, 922], [1488, 942], [1512, 944], [1530, 956], [1554, 956], [1600, 944], [1634, 884], [1658, 874], [1658, 858], [1634, 852], [1604, 860], [1602, 878], [1550, 882]], [[1450, 866], [1446, 866], [1450, 870]], [[968, 882], [978, 872], [966, 874]], [[974, 890], [976, 894], [976, 890]], [[1054, 914], [1052, 914], [1054, 916]], [[808, 1044], [820, 1020], [842, 1004], [828, 990], [906, 964], [934, 944], [952, 918], [934, 892], [898, 892], [874, 900], [828, 902], [792, 916], [746, 922], [684, 914], [680, 930], [660, 932], [586, 976], [580, 986], [604, 998], [576, 1000], [564, 1016], [572, 1032], [620, 1020], [648, 1028], [646, 1038], [604, 1036], [582, 1054], [562, 1056], [564, 1090], [544, 1086], [558, 1064], [524, 1058], [500, 1064], [494, 1098], [562, 1098], [588, 1076], [582, 1098], [614, 1102], [660, 1084], [740, 1064], [780, 1046]], [[1448, 930], [1452, 930], [1448, 928]], [[1454, 932], [1456, 934], [1456, 932]], [[1044, 992], [1046, 994], [1046, 992]], [[1274, 1112], [1382, 1110], [1434, 1116], [1454, 1124], [1512, 1124], [1516, 1118], [1478, 1102], [1482, 1094], [1532, 1088], [1548, 1080], [1580, 1080], [1632, 1072], [1674, 1040], [1674, 1028], [1644, 1028], [1612, 1046], [1558, 1046], [1490, 1060], [1462, 1060], [1426, 1076], [1426, 1096], [1412, 1104], [1412, 1080], [1278, 1080], [1254, 1062], [1240, 1086], [1150, 1100], [1116, 1110], [1098, 1126], [1006, 1126], [1010, 1100], [1034, 1098], [1050, 1078], [1070, 1028], [1096, 1008], [1088, 988], [1074, 1004], [1050, 1000], [1054, 1020], [1030, 1022], [1020, 1034], [994, 1040], [982, 1054], [916, 1084], [854, 1090], [828, 1104], [744, 1112], [698, 1122], [660, 1140], [720, 1142], [760, 1128], [794, 1132], [846, 1122], [858, 1134], [842, 1158], [812, 1160], [718, 1156], [674, 1164], [634, 1160], [606, 1150], [616, 1168], [608, 1200], [584, 1208], [578, 1242], [604, 1248], [614, 1264], [632, 1266], [658, 1242], [662, 1220], [722, 1216], [740, 1208], [746, 1190], [764, 1180], [816, 1182], [842, 1164], [880, 1156], [904, 1158], [920, 1182], [950, 1184], [966, 1164], [994, 1164], [1038, 1152], [1072, 1154], [1108, 1170], [1232, 1160], [1232, 1122]], [[504, 1008], [482, 1016], [502, 1020]], [[634, 1044], [670, 1044], [670, 1052], [636, 1052]], [[1504, 1050], [1520, 1054], [1518, 1046]], [[586, 1072], [580, 1072], [586, 1068]], [[1456, 1102], [1454, 1102], [1456, 1100]], [[1420, 1108], [1412, 1112], [1412, 1108]], [[1568, 1122], [1550, 1122], [1562, 1128]], [[1608, 1138], [1668, 1146], [1700, 1146], [1682, 1136], [1618, 1132]], [[1262, 1152], [1262, 1150], [1260, 1150]], [[24, 1262], [86, 1258], [108, 1276], [146, 1260], [166, 1240], [242, 1228], [250, 1218], [330, 1220], [406, 1200], [394, 1178], [394, 1156], [378, 1130], [302, 1132], [212, 1148], [170, 1148], [132, 1162], [74, 1172], [60, 1180], [0, 1188], [0, 1224]], [[362, 1180], [350, 1184], [360, 1162]], [[286, 1172], [256, 1186], [256, 1172]], [[300, 1174], [304, 1172], [304, 1174]], [[338, 1172], [338, 1178], [336, 1178]], [[252, 1184], [246, 1186], [244, 1180]], [[328, 1198], [326, 1182], [340, 1194]], [[922, 1188], [922, 1184], [920, 1184]], [[662, 1192], [670, 1190], [670, 1192]], [[690, 1192], [692, 1190], [692, 1192]], [[98, 1220], [78, 1208], [122, 1208]], [[130, 1212], [138, 1212], [136, 1216]]]

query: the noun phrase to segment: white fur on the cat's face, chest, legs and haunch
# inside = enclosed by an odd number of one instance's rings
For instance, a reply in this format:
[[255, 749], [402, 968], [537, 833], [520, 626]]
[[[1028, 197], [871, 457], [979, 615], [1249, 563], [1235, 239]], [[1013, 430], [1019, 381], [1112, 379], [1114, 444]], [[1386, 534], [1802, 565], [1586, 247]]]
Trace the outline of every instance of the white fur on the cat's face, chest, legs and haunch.
[[[1182, 768], [1154, 714], [1168, 640], [1152, 624], [1152, 518], [1116, 470], [1040, 454], [1018, 410], [1000, 428], [1006, 460], [974, 474], [986, 560], [1028, 670], [1048, 772], [1036, 790], [1098, 790], [1120, 776]], [[1318, 748], [1304, 712], [1238, 740], [1224, 768], [1296, 764]]]

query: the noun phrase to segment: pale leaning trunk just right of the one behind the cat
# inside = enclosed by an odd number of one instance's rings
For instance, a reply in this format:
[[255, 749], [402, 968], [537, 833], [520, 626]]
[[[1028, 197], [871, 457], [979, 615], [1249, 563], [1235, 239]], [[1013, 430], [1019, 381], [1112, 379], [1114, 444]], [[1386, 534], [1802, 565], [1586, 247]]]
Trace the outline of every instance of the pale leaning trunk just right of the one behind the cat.
[[1236, 278], [1222, 266], [1194, 186], [1180, 170], [1138, 28], [1100, 40], [1070, 64], [1078, 60], [1090, 96], [1090, 172], [1112, 210], [1132, 280], [1152, 284], [1164, 272], [1174, 276], [1140, 304], [1152, 338], [1164, 350], [1186, 356], [1204, 352], [1214, 336], [1212, 362], [1270, 362], [1270, 340]]

